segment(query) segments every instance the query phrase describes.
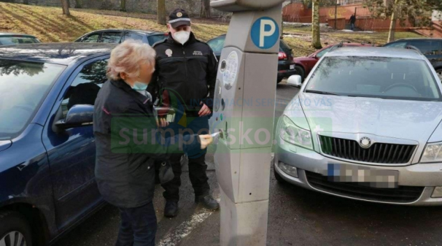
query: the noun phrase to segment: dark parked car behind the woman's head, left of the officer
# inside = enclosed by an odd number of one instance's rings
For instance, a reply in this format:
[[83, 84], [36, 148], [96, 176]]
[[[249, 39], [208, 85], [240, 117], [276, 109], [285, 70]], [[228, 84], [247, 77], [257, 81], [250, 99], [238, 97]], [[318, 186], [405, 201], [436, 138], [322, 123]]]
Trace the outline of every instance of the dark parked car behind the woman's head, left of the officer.
[[143, 43], [153, 45], [165, 40], [169, 34], [159, 31], [140, 31], [128, 29], [103, 29], [86, 33], [75, 42], [81, 43], [121, 43], [124, 40], [142, 40]]

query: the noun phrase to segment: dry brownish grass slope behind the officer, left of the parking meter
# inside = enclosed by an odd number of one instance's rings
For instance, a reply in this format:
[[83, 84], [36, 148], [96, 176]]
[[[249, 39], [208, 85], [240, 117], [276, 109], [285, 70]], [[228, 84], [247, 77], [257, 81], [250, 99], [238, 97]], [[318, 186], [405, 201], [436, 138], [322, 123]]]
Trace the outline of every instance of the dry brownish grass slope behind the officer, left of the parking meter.
[[[70, 9], [72, 16], [62, 14], [61, 8], [0, 3], [0, 32], [28, 33], [43, 42], [70, 42], [96, 29], [126, 28], [149, 31], [167, 31], [151, 19], [152, 15], [137, 17], [116, 16], [117, 11]], [[109, 15], [102, 13], [109, 12]], [[126, 13], [124, 13], [126, 14]], [[150, 19], [149, 19], [150, 18]], [[225, 24], [195, 23], [193, 31], [201, 40], [209, 40], [227, 32]]]

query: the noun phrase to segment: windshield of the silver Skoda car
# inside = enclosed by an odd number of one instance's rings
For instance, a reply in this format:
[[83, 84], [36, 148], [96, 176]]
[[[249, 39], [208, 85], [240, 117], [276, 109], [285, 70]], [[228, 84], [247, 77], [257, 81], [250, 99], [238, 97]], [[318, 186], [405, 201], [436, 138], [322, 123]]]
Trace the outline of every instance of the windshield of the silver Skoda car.
[[306, 93], [397, 100], [441, 100], [436, 79], [422, 60], [386, 57], [325, 57]]

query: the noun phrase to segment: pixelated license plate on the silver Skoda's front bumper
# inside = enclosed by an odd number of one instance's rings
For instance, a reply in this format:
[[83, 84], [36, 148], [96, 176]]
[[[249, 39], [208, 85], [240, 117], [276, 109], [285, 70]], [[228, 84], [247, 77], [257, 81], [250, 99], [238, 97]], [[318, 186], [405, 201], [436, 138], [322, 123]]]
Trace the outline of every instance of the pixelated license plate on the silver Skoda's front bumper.
[[399, 171], [373, 169], [346, 164], [328, 164], [328, 180], [343, 183], [360, 183], [376, 188], [397, 188]]

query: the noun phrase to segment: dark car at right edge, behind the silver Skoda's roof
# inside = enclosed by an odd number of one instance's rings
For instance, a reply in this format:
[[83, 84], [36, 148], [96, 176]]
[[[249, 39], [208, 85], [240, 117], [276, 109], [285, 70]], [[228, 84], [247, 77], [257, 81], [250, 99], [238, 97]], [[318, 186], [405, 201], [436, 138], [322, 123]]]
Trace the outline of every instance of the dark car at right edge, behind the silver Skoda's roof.
[[399, 39], [388, 43], [385, 47], [390, 48], [405, 48], [407, 46], [414, 46], [420, 49], [433, 68], [436, 70], [439, 78], [442, 79], [442, 38], [406, 38]]

